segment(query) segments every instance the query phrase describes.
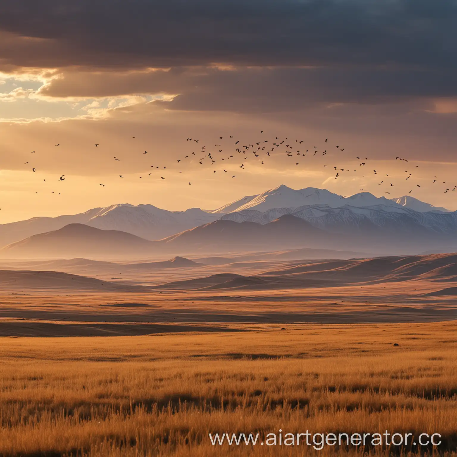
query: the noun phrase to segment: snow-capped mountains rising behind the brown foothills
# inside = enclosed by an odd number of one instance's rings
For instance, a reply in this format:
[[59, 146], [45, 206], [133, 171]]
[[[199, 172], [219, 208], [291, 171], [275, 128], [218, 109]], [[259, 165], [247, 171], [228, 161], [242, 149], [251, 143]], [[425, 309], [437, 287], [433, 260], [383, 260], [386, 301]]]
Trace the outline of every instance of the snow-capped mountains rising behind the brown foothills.
[[219, 218], [266, 224], [285, 214], [304, 219], [314, 227], [339, 232], [354, 227], [362, 228], [368, 224], [367, 227], [372, 229], [382, 228], [391, 232], [398, 228], [403, 230], [408, 227], [417, 231], [420, 227], [425, 227], [436, 233], [451, 233], [457, 228], [454, 216], [438, 217], [446, 212], [449, 215], [455, 214], [412, 197], [390, 200], [377, 198], [369, 192], [342, 197], [314, 187], [294, 190], [278, 186], [259, 195], [240, 198], [214, 211], [203, 211], [200, 208], [167, 211], [149, 204], [134, 206], [125, 203], [94, 208], [75, 215], [39, 217], [2, 224], [0, 247], [35, 234], [58, 230], [71, 223], [118, 230], [146, 240], [157, 240], [212, 223]]

